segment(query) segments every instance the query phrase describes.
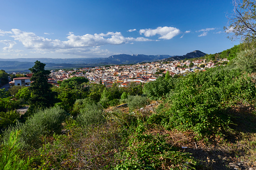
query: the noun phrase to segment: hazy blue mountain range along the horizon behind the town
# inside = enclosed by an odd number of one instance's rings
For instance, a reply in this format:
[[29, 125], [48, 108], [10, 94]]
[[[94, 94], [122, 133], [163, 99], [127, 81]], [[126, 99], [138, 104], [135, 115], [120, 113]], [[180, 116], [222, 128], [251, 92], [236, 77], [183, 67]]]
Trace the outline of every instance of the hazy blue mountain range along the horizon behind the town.
[[[36, 60], [45, 63], [45, 69], [64, 69], [64, 68], [81, 68], [99, 65], [120, 65], [120, 64], [136, 64], [141, 62], [153, 61], [174, 61], [183, 60], [185, 58], [197, 58], [206, 55], [201, 51], [193, 51], [184, 56], [169, 55], [128, 55], [119, 54], [108, 58], [72, 58], [72, 59], [51, 59], [51, 58], [19, 58], [19, 59], [0, 59], [0, 70], [6, 72], [29, 72], [29, 68], [34, 66]], [[25, 62], [26, 61], [26, 62]]]

